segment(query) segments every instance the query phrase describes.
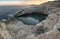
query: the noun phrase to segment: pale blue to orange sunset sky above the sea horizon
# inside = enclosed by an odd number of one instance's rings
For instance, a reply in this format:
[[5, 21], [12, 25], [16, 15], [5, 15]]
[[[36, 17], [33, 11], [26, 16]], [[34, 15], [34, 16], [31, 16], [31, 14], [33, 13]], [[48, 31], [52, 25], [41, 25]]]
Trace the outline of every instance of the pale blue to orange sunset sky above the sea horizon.
[[0, 6], [6, 5], [39, 5], [44, 2], [53, 1], [53, 0], [0, 0]]

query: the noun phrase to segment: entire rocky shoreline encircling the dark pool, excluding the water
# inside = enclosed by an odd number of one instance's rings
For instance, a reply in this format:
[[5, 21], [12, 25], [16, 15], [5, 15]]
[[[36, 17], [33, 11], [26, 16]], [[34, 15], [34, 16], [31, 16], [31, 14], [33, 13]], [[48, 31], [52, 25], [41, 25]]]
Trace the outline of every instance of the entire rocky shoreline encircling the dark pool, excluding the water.
[[[1, 39], [60, 39], [60, 2], [50, 1], [24, 9], [13, 17], [8, 24], [0, 23]], [[33, 25], [24, 25], [15, 20], [16, 16], [31, 13], [48, 15], [45, 20]], [[39, 13], [41, 12], [41, 13]], [[5, 34], [4, 34], [5, 33]], [[5, 36], [6, 35], [6, 36]]]

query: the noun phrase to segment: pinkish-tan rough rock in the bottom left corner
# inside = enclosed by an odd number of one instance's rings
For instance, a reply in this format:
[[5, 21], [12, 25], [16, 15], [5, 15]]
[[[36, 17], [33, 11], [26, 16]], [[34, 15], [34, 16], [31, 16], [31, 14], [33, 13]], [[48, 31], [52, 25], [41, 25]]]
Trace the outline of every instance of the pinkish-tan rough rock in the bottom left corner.
[[12, 39], [8, 30], [6, 30], [6, 25], [0, 23], [0, 39]]

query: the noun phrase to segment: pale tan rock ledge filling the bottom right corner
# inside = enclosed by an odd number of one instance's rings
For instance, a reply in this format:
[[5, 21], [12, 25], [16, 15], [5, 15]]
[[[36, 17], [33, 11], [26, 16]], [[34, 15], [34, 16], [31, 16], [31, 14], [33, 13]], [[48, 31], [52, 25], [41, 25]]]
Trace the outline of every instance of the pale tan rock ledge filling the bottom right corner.
[[51, 31], [41, 34], [35, 39], [60, 39], [60, 21], [57, 22]]

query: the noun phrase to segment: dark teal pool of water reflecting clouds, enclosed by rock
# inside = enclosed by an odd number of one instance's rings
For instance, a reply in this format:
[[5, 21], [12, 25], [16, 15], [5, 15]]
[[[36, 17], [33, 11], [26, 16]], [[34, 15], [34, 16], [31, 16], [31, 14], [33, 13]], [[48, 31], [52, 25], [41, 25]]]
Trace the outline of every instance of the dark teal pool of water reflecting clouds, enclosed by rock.
[[17, 19], [22, 21], [25, 25], [36, 25], [46, 17], [47, 15], [44, 14], [24, 14], [22, 16], [18, 16]]

